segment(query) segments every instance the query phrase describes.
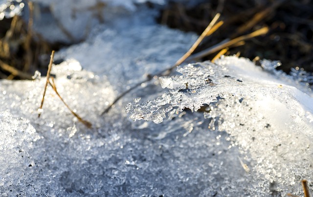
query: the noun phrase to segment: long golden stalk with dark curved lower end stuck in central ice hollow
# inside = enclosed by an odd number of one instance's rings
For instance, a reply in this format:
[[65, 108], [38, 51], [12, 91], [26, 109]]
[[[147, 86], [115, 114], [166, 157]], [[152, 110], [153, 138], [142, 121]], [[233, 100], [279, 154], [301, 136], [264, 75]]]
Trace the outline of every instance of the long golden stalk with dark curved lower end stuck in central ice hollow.
[[[213, 18], [213, 20], [210, 22], [210, 24], [205, 28], [205, 30], [203, 31], [203, 33], [201, 34], [201, 36], [196, 40], [196, 42], [191, 46], [191, 48], [188, 50], [187, 53], [185, 53], [179, 60], [176, 61], [176, 63], [171, 66], [168, 69], [165, 69], [161, 72], [159, 72], [158, 74], [156, 74], [156, 77], [161, 77], [161, 76], [166, 76], [169, 75], [172, 70], [174, 68], [176, 68], [177, 66], [179, 66], [182, 62], [184, 62], [188, 57], [190, 57], [190, 55], [192, 54], [192, 52], [194, 52], [194, 50], [198, 47], [198, 45], [201, 43], [201, 41], [207, 37], [210, 36], [211, 34], [213, 34], [222, 24], [223, 21], [220, 21], [219, 23], [215, 24], [216, 21], [219, 19], [220, 17], [220, 13], [216, 14], [215, 17]], [[214, 25], [215, 24], [215, 25]], [[101, 116], [108, 113], [112, 106], [121, 98], [123, 98], [126, 94], [128, 94], [129, 92], [131, 92], [132, 90], [134, 90], [135, 88], [137, 88], [138, 86], [140, 86], [142, 83], [148, 82], [150, 80], [152, 80], [153, 78], [148, 78], [145, 79], [137, 84], [135, 84], [133, 87], [131, 87], [130, 89], [126, 90], [125, 92], [123, 92], [122, 94], [120, 94], [117, 98], [114, 99], [114, 101], [101, 113]]]

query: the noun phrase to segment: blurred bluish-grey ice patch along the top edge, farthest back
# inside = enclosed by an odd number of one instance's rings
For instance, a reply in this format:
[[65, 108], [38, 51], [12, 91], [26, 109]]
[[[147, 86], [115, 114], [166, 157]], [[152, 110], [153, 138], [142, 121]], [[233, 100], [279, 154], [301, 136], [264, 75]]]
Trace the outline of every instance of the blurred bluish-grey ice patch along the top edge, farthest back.
[[[114, 24], [117, 19], [133, 17], [145, 3], [165, 6], [169, 0], [32, 0], [35, 6], [34, 30], [50, 42], [77, 43], [92, 34], [101, 24]], [[194, 5], [201, 0], [175, 0]], [[156, 17], [156, 9], [146, 12]]]

